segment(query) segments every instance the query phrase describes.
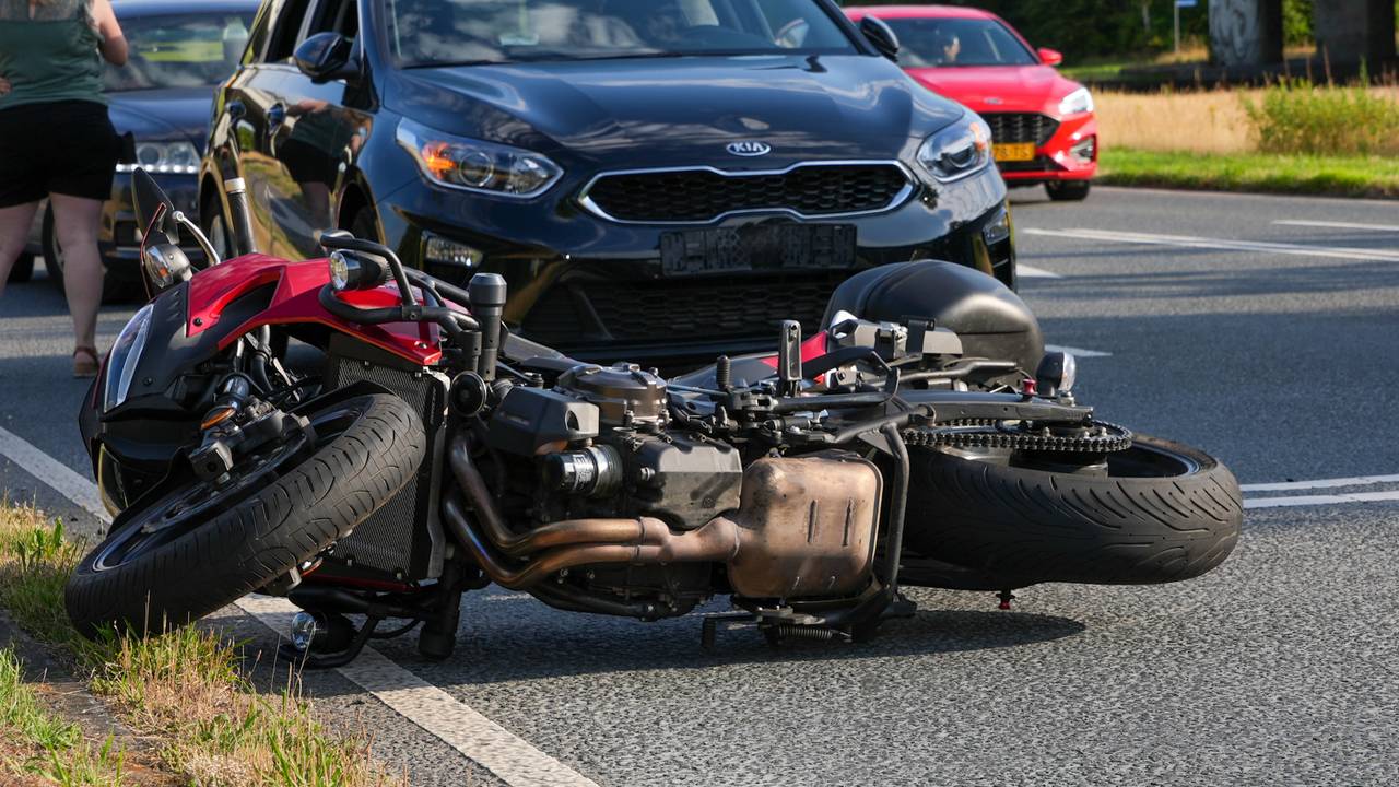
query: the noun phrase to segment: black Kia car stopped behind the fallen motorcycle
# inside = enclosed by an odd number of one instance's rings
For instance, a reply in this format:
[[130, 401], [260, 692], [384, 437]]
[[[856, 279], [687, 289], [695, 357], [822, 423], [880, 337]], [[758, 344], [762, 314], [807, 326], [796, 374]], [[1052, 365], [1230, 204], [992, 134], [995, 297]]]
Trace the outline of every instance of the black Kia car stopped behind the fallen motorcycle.
[[[218, 90], [201, 213], [340, 227], [582, 358], [771, 346], [837, 283], [942, 258], [1014, 284], [989, 130], [830, 0], [269, 0]], [[883, 55], [881, 55], [883, 52]]]

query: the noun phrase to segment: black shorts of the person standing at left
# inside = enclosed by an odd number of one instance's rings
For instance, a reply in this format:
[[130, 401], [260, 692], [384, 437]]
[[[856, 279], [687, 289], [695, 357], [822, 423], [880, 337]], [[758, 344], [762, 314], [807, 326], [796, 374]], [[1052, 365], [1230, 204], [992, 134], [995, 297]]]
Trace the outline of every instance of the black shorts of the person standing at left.
[[0, 109], [0, 207], [50, 193], [111, 199], [120, 153], [104, 104], [53, 101]]

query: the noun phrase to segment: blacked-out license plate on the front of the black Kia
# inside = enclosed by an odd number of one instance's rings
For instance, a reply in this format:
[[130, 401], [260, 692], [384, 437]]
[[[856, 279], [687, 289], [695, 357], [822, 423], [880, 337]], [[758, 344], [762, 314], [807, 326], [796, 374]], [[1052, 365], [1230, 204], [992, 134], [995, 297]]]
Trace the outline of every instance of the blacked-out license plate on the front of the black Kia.
[[660, 235], [660, 267], [666, 276], [853, 266], [853, 224], [760, 224]]

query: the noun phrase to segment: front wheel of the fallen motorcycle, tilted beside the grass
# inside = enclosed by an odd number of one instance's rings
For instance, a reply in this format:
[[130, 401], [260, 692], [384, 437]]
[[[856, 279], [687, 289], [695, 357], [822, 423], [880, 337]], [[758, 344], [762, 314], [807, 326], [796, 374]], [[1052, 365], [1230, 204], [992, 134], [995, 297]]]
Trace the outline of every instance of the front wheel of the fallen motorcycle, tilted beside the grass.
[[355, 396], [308, 417], [313, 445], [276, 466], [253, 462], [221, 487], [206, 485], [214, 492], [203, 497], [203, 482], [182, 485], [108, 534], [64, 592], [77, 630], [145, 636], [227, 606], [347, 536], [407, 485], [427, 451], [421, 419], [397, 396]]

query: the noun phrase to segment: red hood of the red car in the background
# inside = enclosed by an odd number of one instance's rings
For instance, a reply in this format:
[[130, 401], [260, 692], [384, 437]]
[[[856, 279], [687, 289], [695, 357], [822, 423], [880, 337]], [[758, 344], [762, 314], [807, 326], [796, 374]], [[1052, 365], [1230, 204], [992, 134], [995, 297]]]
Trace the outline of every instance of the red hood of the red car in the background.
[[909, 69], [908, 74], [974, 112], [1058, 115], [1059, 101], [1080, 87], [1049, 66]]

